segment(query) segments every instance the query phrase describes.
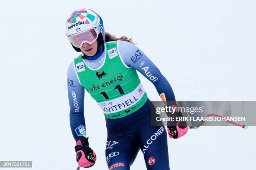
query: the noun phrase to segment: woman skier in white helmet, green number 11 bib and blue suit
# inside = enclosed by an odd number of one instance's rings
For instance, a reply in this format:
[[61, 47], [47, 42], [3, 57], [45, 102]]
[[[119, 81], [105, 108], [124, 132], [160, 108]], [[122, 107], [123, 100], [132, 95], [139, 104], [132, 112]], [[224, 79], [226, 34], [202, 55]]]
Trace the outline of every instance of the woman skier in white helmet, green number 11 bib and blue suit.
[[[140, 149], [148, 170], [169, 170], [166, 130], [164, 125], [151, 126], [151, 101], [136, 70], [154, 84], [163, 100], [175, 101], [166, 78], [131, 39], [105, 34], [102, 19], [92, 10], [72, 13], [66, 33], [74, 50], [82, 52], [67, 73], [70, 126], [78, 165], [89, 168], [96, 161], [85, 133], [85, 89], [105, 115], [109, 170], [129, 170]], [[174, 139], [188, 130], [186, 122], [167, 128]]]

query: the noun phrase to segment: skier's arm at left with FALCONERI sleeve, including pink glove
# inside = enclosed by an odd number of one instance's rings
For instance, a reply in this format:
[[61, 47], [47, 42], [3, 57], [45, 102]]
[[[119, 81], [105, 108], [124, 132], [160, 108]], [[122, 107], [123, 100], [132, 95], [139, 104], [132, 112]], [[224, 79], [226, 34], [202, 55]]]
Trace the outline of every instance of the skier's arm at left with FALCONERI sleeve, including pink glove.
[[76, 140], [76, 159], [79, 167], [89, 168], [95, 164], [96, 154], [90, 148], [85, 133], [84, 120], [84, 87], [79, 83], [74, 63], [69, 65], [67, 73], [67, 85], [69, 96], [69, 121], [72, 135]]

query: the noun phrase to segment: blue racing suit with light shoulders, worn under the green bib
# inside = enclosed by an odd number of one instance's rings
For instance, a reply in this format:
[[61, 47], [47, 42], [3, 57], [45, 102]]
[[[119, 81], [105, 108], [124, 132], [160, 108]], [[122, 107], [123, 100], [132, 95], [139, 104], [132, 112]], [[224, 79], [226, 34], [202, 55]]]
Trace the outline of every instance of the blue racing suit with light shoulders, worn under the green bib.
[[[175, 101], [174, 92], [166, 78], [151, 60], [135, 45], [118, 41], [123, 62], [135, 68], [151, 81], [159, 94], [164, 93], [167, 101]], [[139, 55], [138, 55], [139, 53]], [[105, 53], [93, 60], [84, 59], [92, 68], [100, 67]], [[143, 65], [143, 67], [141, 67]], [[147, 67], [148, 69], [142, 69]], [[157, 77], [154, 82], [151, 75]], [[67, 74], [68, 96], [70, 105], [70, 126], [74, 139], [86, 137], [84, 120], [84, 87], [79, 84], [73, 64]], [[151, 126], [151, 101], [136, 112], [122, 118], [106, 118], [108, 138], [106, 143], [106, 161], [110, 170], [129, 170], [141, 149], [148, 170], [169, 170], [167, 134], [164, 125]], [[78, 130], [84, 133], [78, 134]]]

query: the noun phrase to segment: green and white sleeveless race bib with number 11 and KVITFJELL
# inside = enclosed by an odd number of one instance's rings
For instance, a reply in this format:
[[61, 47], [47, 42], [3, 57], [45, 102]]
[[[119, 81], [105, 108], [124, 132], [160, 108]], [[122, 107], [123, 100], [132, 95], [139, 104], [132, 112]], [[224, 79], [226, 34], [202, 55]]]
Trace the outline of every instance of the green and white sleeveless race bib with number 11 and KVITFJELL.
[[80, 84], [96, 100], [108, 118], [120, 118], [138, 110], [147, 100], [136, 70], [120, 57], [118, 41], [105, 43], [103, 64], [92, 69], [82, 55], [74, 59]]

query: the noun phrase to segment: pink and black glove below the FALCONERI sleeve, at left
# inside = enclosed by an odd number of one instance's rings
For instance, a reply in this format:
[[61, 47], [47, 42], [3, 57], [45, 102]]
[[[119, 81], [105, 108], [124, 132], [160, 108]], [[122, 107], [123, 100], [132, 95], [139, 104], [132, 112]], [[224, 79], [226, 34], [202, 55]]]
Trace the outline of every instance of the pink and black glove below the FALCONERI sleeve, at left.
[[79, 167], [90, 168], [95, 164], [96, 154], [90, 148], [88, 138], [77, 140], [75, 150]]

